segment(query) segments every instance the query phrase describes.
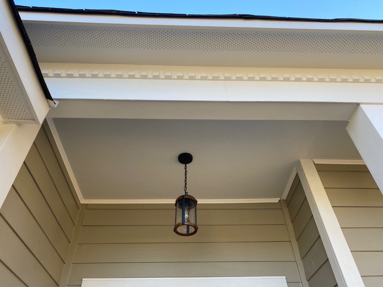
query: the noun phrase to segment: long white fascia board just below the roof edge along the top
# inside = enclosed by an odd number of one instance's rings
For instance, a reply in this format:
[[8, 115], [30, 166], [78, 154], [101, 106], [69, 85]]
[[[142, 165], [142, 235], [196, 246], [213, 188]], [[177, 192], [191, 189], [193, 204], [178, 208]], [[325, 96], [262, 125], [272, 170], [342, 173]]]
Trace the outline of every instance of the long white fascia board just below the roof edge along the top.
[[20, 11], [24, 23], [128, 26], [147, 28], [295, 30], [327, 32], [381, 32], [383, 23], [244, 20], [223, 18], [161, 18], [120, 15], [81, 15]]

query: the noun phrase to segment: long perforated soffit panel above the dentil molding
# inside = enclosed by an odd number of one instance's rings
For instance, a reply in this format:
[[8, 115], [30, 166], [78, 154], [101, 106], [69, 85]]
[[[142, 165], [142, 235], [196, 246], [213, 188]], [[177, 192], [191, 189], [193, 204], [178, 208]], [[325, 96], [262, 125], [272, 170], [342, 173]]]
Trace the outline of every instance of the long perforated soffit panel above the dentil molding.
[[383, 35], [25, 23], [41, 62], [381, 68]]

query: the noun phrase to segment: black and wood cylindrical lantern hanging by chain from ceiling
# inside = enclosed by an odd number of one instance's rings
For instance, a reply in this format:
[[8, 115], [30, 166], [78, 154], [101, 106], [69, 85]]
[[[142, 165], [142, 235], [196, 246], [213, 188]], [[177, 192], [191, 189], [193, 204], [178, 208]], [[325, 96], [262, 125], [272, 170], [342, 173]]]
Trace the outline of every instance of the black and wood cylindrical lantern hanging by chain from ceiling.
[[193, 156], [190, 153], [181, 153], [178, 155], [178, 161], [185, 165], [185, 186], [184, 195], [175, 201], [175, 225], [173, 231], [178, 235], [190, 236], [197, 233], [197, 200], [188, 195], [187, 184], [187, 164], [191, 163]]

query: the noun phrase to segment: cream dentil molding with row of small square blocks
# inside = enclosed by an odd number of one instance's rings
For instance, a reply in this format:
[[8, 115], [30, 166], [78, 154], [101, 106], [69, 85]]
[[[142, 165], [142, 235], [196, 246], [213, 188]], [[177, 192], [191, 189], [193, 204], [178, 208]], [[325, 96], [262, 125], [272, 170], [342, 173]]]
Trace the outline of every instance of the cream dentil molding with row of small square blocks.
[[40, 63], [45, 78], [383, 83], [383, 70]]

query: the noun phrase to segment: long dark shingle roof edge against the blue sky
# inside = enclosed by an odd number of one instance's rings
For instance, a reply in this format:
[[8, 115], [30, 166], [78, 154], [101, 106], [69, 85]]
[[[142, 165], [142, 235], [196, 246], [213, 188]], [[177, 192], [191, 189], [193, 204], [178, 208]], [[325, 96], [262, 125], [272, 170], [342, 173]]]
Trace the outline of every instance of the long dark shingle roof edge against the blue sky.
[[383, 23], [383, 20], [355, 19], [355, 18], [337, 18], [337, 19], [316, 19], [316, 18], [295, 18], [295, 17], [277, 17], [262, 16], [250, 14], [227, 14], [227, 15], [196, 15], [196, 14], [172, 14], [172, 13], [147, 13], [120, 10], [95, 10], [95, 9], [69, 9], [69, 8], [51, 8], [51, 7], [29, 7], [16, 6], [19, 11], [32, 12], [51, 12], [51, 13], [75, 13], [75, 14], [103, 14], [119, 16], [136, 17], [164, 17], [164, 18], [224, 18], [224, 19], [244, 19], [244, 20], [277, 20], [277, 21], [311, 21], [311, 22], [367, 22]]

